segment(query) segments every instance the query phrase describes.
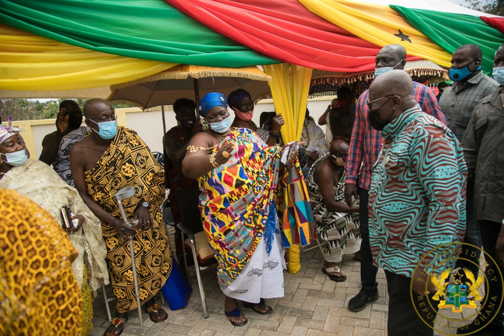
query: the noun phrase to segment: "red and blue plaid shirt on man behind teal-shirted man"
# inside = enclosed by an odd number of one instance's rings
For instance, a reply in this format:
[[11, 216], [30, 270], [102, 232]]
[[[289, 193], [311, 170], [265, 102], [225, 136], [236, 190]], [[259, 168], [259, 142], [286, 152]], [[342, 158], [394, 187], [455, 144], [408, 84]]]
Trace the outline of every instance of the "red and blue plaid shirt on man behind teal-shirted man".
[[[372, 128], [369, 124], [369, 108], [366, 104], [368, 95], [369, 91], [366, 90], [360, 95], [355, 105], [355, 122], [353, 124], [350, 148], [345, 166], [345, 183], [357, 184], [358, 178], [359, 186], [366, 190], [369, 190], [371, 186], [372, 167], [383, 144], [382, 133]], [[420, 105], [423, 112], [446, 125], [445, 115], [439, 108], [432, 89], [423, 84], [413, 82], [413, 98]]]

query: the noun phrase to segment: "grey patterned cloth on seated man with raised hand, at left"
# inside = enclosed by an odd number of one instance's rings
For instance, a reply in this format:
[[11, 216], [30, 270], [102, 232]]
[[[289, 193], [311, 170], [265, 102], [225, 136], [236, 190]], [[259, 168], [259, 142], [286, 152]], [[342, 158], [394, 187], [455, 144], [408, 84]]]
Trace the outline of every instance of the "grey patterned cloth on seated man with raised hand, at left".
[[75, 186], [74, 179], [72, 178], [72, 171], [70, 170], [70, 149], [84, 139], [90, 130], [91, 128], [89, 127], [81, 126], [61, 138], [59, 142], [58, 154], [52, 163], [52, 169], [54, 169], [56, 174], [68, 185]]

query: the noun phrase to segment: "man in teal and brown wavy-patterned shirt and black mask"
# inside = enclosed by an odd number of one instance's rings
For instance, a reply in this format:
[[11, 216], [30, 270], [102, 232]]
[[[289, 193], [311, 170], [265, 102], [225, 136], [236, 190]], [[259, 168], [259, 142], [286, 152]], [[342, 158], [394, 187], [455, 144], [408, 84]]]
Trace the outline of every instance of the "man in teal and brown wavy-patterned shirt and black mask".
[[[438, 302], [428, 275], [443, 271], [433, 270], [433, 258], [453, 257], [458, 248], [439, 246], [461, 242], [466, 226], [462, 147], [448, 127], [422, 112], [402, 70], [375, 79], [367, 104], [371, 126], [385, 139], [371, 177], [369, 240], [387, 277], [388, 334], [432, 335]], [[416, 300], [424, 296], [423, 303]], [[424, 313], [427, 301], [433, 309]]]

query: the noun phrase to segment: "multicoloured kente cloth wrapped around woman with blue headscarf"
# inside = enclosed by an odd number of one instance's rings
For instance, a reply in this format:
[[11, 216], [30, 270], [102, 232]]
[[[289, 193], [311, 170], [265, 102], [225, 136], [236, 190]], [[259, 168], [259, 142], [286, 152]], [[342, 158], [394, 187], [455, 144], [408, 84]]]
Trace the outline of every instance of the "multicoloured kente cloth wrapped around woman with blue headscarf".
[[277, 213], [284, 248], [309, 244], [313, 223], [297, 160], [281, 167], [281, 148], [268, 147], [247, 128], [234, 129], [226, 139], [234, 143], [229, 161], [198, 179], [203, 227], [216, 251], [221, 289], [240, 275], [263, 236], [271, 252]]

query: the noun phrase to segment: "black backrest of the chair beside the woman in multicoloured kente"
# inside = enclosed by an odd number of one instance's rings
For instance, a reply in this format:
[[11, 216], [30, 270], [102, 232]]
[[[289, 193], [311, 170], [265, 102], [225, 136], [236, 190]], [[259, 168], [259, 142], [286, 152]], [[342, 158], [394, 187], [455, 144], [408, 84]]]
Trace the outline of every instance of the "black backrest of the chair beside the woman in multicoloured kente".
[[199, 205], [201, 190], [197, 186], [177, 191], [182, 224], [193, 233], [203, 231]]

